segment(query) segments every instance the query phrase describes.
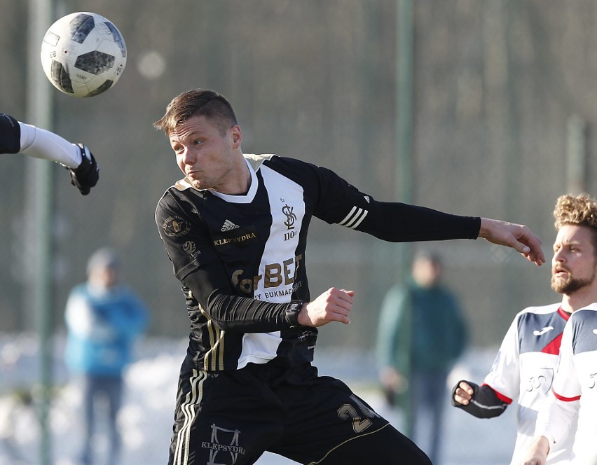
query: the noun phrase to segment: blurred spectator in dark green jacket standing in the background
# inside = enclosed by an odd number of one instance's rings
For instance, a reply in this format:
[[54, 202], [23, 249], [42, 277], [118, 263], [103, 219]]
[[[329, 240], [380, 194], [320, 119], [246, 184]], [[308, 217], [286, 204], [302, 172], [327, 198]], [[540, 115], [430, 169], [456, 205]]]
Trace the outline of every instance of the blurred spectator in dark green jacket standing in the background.
[[467, 343], [457, 298], [440, 283], [437, 254], [421, 252], [411, 277], [387, 292], [380, 313], [377, 355], [387, 402], [406, 410], [406, 432], [439, 464], [447, 377]]

